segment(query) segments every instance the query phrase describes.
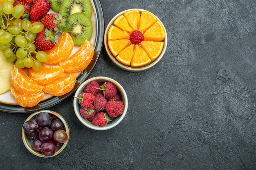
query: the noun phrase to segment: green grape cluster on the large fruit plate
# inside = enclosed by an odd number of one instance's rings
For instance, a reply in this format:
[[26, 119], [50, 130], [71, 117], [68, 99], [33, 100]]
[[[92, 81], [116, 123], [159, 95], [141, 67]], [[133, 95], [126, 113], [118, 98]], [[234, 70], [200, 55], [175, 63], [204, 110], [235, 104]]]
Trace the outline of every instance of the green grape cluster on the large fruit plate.
[[47, 53], [37, 51], [34, 45], [36, 34], [43, 30], [44, 25], [21, 20], [25, 9], [21, 4], [13, 7], [13, 1], [3, 0], [0, 4], [0, 50], [17, 68], [33, 68], [38, 72], [42, 70], [42, 63], [49, 59]]

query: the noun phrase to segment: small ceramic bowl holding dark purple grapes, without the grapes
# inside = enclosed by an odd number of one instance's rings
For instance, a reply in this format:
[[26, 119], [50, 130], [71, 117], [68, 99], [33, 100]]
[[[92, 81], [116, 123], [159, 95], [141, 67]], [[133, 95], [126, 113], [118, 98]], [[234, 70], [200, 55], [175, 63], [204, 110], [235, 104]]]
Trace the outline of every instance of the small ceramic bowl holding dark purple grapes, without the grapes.
[[[67, 146], [67, 143], [69, 142], [69, 139], [70, 139], [70, 128], [69, 128], [69, 125], [67, 124], [67, 121], [65, 120], [65, 118], [63, 116], [61, 116], [61, 114], [57, 113], [57, 112], [54, 112], [54, 111], [49, 111], [49, 110], [40, 110], [40, 111], [36, 111], [34, 113], [32, 113], [26, 120], [25, 122], [27, 122], [28, 120], [36, 120], [36, 115], [40, 112], [47, 112], [49, 113], [50, 117], [53, 118], [53, 117], [58, 117], [64, 124], [64, 130], [66, 131], [67, 133], [67, 142], [65, 142], [61, 147], [58, 147], [57, 150], [56, 150], [56, 153], [54, 153], [54, 155], [52, 156], [45, 156], [43, 155], [43, 153], [40, 153], [40, 152], [37, 152], [35, 151], [33, 148], [32, 148], [32, 142], [33, 140], [29, 140], [27, 139], [26, 137], [26, 133], [25, 131], [23, 130], [23, 126], [22, 126], [22, 131], [21, 131], [21, 135], [22, 135], [22, 141], [24, 143], [24, 145], [26, 146], [27, 150], [29, 150], [29, 152], [31, 152], [32, 154], [38, 156], [38, 157], [43, 157], [43, 158], [47, 158], [47, 157], [54, 157], [56, 155], [58, 155], [59, 153], [61, 153], [61, 151], [64, 150], [64, 148]], [[24, 123], [25, 123], [24, 122]], [[24, 124], [23, 124], [24, 125]]]

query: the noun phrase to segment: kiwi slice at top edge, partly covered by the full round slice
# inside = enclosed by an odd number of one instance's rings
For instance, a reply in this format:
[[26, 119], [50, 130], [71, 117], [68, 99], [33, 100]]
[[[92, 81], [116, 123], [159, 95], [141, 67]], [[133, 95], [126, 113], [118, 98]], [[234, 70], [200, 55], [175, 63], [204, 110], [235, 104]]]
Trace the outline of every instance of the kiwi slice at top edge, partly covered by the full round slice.
[[92, 4], [90, 0], [63, 0], [59, 13], [63, 17], [68, 17], [73, 13], [84, 13], [91, 18]]

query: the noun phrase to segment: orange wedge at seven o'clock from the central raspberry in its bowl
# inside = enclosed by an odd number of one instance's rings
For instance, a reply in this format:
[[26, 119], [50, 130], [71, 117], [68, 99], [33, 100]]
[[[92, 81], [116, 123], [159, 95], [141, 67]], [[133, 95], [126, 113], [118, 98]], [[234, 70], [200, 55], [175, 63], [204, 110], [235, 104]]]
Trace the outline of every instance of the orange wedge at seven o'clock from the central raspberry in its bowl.
[[118, 54], [116, 59], [120, 63], [123, 63], [124, 65], [130, 65], [132, 60], [133, 49], [134, 49], [134, 44], [129, 45]]

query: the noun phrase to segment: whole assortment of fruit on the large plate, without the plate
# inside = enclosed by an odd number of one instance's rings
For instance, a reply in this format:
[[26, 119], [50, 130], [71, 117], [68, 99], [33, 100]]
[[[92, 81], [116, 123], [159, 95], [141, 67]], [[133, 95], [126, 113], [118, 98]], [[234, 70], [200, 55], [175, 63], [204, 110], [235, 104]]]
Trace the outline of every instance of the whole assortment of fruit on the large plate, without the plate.
[[91, 16], [90, 0], [0, 0], [0, 94], [34, 107], [70, 92], [94, 54]]

